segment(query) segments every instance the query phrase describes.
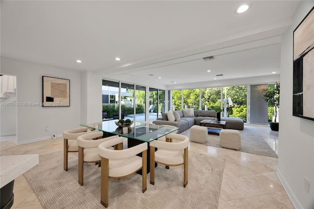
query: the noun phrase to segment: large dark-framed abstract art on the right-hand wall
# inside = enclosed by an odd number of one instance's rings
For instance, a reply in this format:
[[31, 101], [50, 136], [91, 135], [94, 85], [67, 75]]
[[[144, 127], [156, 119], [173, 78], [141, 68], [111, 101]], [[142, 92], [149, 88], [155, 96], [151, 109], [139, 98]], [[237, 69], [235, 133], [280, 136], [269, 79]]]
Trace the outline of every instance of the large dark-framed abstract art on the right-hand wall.
[[293, 31], [292, 115], [314, 120], [314, 7]]

